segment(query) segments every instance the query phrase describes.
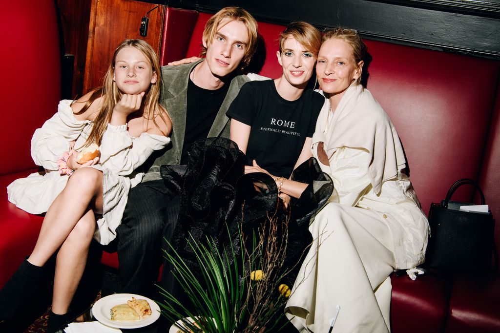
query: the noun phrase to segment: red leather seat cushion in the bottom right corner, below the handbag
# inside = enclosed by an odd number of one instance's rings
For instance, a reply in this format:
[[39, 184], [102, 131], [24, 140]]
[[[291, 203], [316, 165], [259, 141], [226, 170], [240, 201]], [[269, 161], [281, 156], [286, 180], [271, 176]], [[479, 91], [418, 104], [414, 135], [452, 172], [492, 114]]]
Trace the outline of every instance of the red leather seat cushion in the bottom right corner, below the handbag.
[[500, 332], [500, 276], [456, 276], [446, 333]]

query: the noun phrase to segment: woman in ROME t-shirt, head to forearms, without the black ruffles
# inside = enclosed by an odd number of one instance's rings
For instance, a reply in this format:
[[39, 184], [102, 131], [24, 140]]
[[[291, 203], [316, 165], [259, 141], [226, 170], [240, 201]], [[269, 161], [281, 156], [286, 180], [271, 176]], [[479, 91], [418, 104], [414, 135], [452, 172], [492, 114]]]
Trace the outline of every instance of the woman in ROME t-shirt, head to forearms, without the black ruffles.
[[306, 86], [320, 45], [321, 33], [314, 26], [290, 23], [276, 52], [281, 76], [244, 84], [226, 113], [231, 140], [252, 164], [245, 166], [245, 173], [269, 174], [284, 202], [289, 200], [286, 194], [298, 198], [307, 186], [285, 180], [312, 156], [311, 137], [324, 97]]

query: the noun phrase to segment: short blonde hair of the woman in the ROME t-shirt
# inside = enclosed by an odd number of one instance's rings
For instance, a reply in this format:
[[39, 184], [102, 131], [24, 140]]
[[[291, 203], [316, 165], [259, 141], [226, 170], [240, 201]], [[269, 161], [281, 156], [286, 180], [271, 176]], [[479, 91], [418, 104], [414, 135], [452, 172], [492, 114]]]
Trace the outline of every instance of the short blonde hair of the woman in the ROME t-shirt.
[[303, 21], [291, 22], [279, 35], [279, 52], [284, 48], [284, 43], [287, 38], [293, 37], [307, 51], [311, 52], [315, 57], [321, 46], [321, 32], [312, 24]]

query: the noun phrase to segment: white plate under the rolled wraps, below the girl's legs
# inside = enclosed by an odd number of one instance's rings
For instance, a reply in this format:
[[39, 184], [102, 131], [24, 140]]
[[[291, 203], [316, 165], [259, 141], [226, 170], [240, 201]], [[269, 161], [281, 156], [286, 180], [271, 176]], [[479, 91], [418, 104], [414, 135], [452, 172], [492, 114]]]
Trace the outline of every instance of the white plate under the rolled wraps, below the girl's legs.
[[[109, 313], [111, 307], [118, 304], [126, 304], [126, 301], [132, 299], [132, 297], [135, 297], [135, 299], [147, 300], [149, 306], [151, 306], [151, 315], [145, 319], [140, 319], [137, 321], [127, 322], [111, 320], [111, 314]], [[95, 319], [97, 319], [104, 325], [116, 328], [144, 327], [155, 322], [159, 318], [159, 314], [159, 306], [154, 302], [154, 300], [133, 293], [115, 293], [109, 296], [105, 296], [97, 300], [92, 306], [92, 315], [95, 317]]]

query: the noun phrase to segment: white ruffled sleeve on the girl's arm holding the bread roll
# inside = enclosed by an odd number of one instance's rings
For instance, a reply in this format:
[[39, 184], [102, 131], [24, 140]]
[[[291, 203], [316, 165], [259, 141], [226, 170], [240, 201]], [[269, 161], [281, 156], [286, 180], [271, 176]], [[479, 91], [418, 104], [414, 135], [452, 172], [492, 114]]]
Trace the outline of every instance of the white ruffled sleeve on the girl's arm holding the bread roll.
[[71, 109], [71, 100], [59, 102], [57, 113], [37, 128], [31, 138], [31, 157], [36, 165], [48, 170], [57, 170], [57, 158], [71, 148], [89, 120], [76, 120]]

